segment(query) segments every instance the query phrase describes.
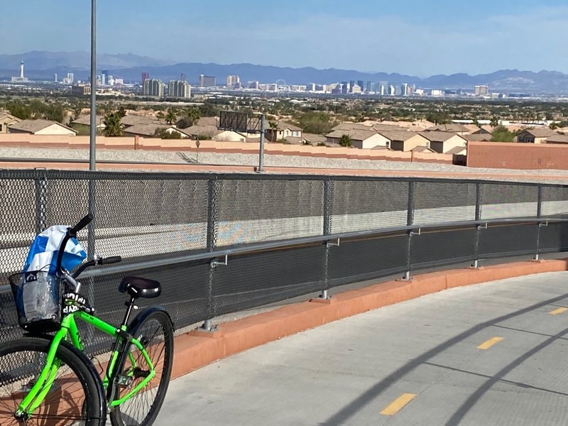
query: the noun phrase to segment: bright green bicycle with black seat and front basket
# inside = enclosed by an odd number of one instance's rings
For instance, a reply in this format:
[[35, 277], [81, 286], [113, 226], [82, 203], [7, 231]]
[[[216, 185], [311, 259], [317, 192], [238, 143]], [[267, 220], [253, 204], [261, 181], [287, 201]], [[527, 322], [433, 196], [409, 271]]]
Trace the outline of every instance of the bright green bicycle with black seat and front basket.
[[[114, 426], [149, 426], [160, 411], [173, 364], [172, 320], [163, 308], [148, 307], [129, 322], [137, 309], [136, 299], [158, 297], [160, 283], [124, 278], [119, 291], [130, 299], [125, 303], [124, 320], [114, 327], [93, 315], [94, 310], [79, 294], [81, 284], [76, 278], [86, 268], [121, 258], [95, 258], [72, 274], [61, 266], [67, 241], [91, 220], [89, 214], [67, 228], [55, 271], [10, 277], [18, 320], [28, 335], [0, 344], [2, 426], [104, 426], [107, 413]], [[37, 297], [38, 289], [42, 297]], [[34, 297], [29, 296], [32, 291]], [[82, 351], [77, 320], [115, 339], [102, 377]]]

